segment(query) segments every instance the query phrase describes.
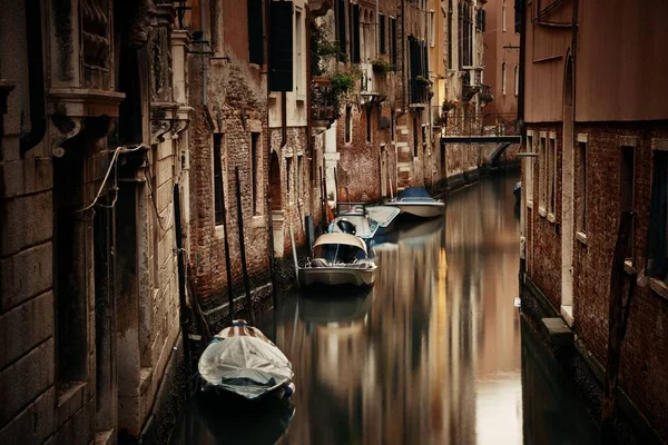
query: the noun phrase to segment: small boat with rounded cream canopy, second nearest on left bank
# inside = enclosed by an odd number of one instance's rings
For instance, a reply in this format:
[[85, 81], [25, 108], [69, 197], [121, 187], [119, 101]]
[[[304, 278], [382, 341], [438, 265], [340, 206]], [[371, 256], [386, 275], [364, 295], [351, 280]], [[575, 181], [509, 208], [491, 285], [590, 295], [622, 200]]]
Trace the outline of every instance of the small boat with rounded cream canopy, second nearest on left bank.
[[321, 235], [313, 246], [314, 258], [299, 267], [303, 286], [373, 286], [377, 266], [366, 253], [366, 244], [350, 234]]

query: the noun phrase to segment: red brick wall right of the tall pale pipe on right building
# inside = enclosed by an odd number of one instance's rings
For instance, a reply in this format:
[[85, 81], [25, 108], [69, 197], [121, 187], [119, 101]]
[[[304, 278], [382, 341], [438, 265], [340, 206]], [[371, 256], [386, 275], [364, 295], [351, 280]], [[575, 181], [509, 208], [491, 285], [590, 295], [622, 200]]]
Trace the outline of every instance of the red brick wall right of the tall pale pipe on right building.
[[[666, 125], [581, 125], [588, 135], [587, 245], [573, 247], [574, 332], [599, 363], [607, 359], [610, 266], [619, 225], [620, 136], [636, 148], [635, 266], [646, 265], [651, 201], [651, 138], [667, 138]], [[576, 160], [578, 158], [576, 157]], [[668, 300], [637, 287], [621, 356], [621, 385], [662, 437], [668, 436]]]

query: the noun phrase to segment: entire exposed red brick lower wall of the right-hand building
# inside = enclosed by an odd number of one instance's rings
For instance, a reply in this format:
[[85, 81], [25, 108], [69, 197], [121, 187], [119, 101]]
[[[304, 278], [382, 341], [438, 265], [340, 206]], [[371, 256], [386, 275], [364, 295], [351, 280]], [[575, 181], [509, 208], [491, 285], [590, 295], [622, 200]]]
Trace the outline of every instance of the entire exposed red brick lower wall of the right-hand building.
[[[534, 131], [536, 147], [540, 131], [557, 134], [557, 196], [561, 197], [561, 134], [550, 125], [529, 125]], [[587, 224], [586, 238], [573, 237], [573, 330], [599, 365], [607, 359], [608, 298], [610, 267], [617, 240], [620, 214], [621, 146], [635, 140], [637, 210], [635, 268], [644, 275], [651, 200], [651, 139], [668, 137], [660, 123], [579, 123], [576, 136], [587, 135]], [[581, 168], [579, 147], [574, 147], [576, 178]], [[539, 160], [533, 167], [533, 208], [527, 209], [527, 270], [533, 283], [554, 308], [561, 305], [561, 201], [557, 200], [556, 220], [539, 215], [539, 190], [544, 177], [539, 174]], [[525, 185], [525, 171], [522, 172]], [[578, 182], [576, 182], [577, 185]], [[581, 192], [574, 188], [578, 227]], [[655, 281], [656, 283], [656, 281]], [[668, 436], [668, 299], [660, 286], [641, 280], [631, 308], [628, 333], [622, 346], [620, 384], [659, 436]]]

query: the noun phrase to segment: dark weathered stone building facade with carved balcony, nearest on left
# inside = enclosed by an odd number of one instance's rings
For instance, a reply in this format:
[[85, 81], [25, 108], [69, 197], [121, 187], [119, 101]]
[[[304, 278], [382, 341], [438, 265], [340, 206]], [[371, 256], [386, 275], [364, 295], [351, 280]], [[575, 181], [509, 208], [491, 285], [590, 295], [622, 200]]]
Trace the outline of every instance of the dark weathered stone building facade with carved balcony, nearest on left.
[[164, 441], [189, 36], [171, 3], [0, 16], [0, 443]]

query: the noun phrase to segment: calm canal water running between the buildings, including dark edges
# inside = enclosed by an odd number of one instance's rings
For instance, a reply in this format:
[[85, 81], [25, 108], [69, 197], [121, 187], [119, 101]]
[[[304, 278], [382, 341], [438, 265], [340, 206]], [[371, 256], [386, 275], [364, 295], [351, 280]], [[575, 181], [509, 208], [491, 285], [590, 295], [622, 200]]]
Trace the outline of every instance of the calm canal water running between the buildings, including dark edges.
[[[196, 397], [173, 444], [589, 444], [596, 428], [521, 322], [517, 175], [448, 198], [374, 246], [371, 291], [302, 293], [262, 325], [289, 408]], [[345, 295], [344, 295], [345, 294]]]

